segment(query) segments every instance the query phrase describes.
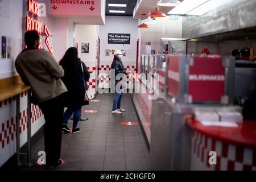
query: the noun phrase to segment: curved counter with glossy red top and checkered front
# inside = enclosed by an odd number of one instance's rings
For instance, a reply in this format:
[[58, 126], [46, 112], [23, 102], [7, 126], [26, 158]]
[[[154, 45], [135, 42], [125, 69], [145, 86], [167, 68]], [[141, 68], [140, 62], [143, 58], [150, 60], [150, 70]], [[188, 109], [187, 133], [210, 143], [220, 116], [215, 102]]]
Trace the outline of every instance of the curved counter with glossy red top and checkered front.
[[[256, 122], [237, 127], [204, 126], [187, 119], [191, 127], [191, 170], [256, 170]], [[216, 151], [216, 165], [209, 165], [209, 152]]]

